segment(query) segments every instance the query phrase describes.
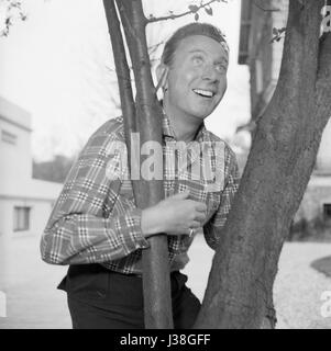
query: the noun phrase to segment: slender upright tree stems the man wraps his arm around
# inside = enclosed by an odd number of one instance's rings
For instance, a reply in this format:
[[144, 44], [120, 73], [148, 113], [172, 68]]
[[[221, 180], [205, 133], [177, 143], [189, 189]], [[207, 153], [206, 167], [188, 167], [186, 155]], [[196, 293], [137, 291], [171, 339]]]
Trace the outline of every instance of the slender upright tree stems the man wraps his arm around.
[[[163, 145], [163, 112], [152, 80], [145, 36], [147, 21], [141, 0], [117, 0], [134, 71], [136, 88], [134, 104], [117, 10], [113, 0], [103, 0], [103, 4], [120, 84], [129, 160], [131, 167], [137, 168], [134, 171], [137, 170], [141, 174], [141, 165], [144, 161], [140, 155], [141, 146], [151, 140], [159, 146]], [[134, 150], [134, 156], [131, 155], [131, 133], [133, 132], [137, 132], [140, 137], [140, 150]], [[132, 184], [139, 208], [155, 205], [164, 197], [163, 182], [159, 180], [139, 179], [133, 180]], [[148, 242], [151, 247], [142, 252], [145, 327], [170, 329], [173, 314], [167, 236], [164, 234], [153, 236], [148, 238]]]

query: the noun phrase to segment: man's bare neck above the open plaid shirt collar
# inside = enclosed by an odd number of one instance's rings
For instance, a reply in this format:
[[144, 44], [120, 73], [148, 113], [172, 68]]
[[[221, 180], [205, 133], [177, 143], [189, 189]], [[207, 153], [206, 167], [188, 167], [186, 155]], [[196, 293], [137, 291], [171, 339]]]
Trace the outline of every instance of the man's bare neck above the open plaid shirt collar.
[[166, 103], [164, 104], [164, 112], [170, 121], [177, 140], [189, 143], [195, 139], [195, 136], [201, 126], [201, 121], [192, 116], [179, 116], [178, 114], [174, 113], [174, 111], [172, 111]]

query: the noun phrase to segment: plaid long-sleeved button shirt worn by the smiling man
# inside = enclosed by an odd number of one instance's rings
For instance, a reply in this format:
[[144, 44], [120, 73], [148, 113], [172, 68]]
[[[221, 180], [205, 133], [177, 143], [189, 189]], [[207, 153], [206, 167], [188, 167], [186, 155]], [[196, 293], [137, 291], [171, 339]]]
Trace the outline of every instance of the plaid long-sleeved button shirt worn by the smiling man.
[[[176, 139], [166, 115], [163, 139], [165, 197], [189, 190], [191, 200], [207, 204], [207, 219], [200, 233], [203, 229], [207, 244], [216, 249], [239, 185], [235, 155], [224, 141], [208, 132], [203, 123], [195, 141], [211, 146], [208, 157], [192, 149], [187, 152], [188, 161], [176, 167], [185, 149], [175, 152], [176, 162], [172, 161], [169, 156]], [[142, 273], [142, 250], [150, 247], [141, 230], [142, 210], [135, 206], [132, 182], [121, 172], [117, 179], [109, 177], [118, 161], [110, 146], [124, 140], [122, 117], [108, 121], [89, 138], [67, 177], [42, 236], [44, 261], [100, 263], [121, 273]], [[206, 160], [218, 177], [206, 180], [195, 174]], [[210, 185], [212, 188], [208, 188]], [[189, 261], [187, 251], [194, 236], [168, 236], [170, 271], [183, 269]]]

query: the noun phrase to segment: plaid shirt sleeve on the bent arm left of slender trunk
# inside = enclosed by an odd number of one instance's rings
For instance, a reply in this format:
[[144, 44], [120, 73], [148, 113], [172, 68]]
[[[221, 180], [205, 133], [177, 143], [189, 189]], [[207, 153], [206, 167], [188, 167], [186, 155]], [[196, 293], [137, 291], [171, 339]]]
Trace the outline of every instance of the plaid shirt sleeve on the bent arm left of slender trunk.
[[42, 259], [52, 264], [100, 263], [147, 248], [140, 208], [113, 215], [121, 180], [107, 173], [109, 143], [115, 133], [93, 135], [73, 166], [41, 240]]

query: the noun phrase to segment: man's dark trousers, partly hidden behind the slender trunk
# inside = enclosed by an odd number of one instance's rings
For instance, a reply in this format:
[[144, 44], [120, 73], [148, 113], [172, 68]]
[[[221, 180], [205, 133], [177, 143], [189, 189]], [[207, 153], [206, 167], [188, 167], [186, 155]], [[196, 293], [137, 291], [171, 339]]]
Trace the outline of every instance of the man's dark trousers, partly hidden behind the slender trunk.
[[[175, 329], [190, 329], [199, 299], [185, 285], [187, 276], [170, 274]], [[74, 329], [144, 329], [142, 278], [100, 264], [70, 265], [58, 288], [65, 290]]]

